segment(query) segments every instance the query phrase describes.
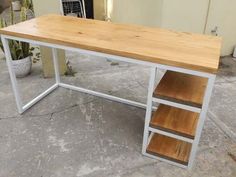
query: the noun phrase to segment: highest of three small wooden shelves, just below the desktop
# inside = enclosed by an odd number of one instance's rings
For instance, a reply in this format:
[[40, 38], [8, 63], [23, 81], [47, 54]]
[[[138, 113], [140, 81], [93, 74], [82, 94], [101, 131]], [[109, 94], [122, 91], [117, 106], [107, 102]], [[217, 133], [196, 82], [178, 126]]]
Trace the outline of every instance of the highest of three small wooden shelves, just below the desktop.
[[206, 78], [167, 71], [153, 95], [156, 98], [201, 108], [206, 85]]

